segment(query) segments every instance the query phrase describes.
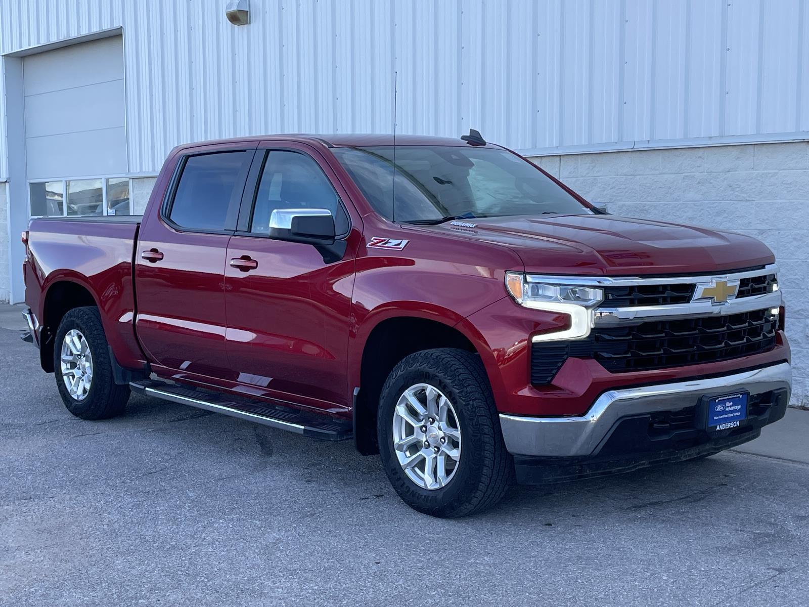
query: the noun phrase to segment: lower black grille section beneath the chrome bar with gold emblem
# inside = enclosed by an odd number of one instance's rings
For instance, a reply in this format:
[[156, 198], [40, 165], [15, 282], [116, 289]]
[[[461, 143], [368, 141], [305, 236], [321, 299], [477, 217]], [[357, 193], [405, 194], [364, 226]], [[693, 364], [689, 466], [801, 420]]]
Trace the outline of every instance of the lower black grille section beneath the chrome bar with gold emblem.
[[608, 371], [646, 371], [714, 363], [775, 347], [777, 316], [756, 310], [728, 316], [657, 320], [593, 330], [592, 356]]

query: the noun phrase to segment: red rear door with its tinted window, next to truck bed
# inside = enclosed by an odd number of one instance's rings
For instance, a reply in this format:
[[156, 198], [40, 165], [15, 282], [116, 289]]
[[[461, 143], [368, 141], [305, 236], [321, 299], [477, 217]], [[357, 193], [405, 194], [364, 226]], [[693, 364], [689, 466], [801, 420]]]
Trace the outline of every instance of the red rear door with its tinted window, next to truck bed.
[[182, 155], [159, 212], [144, 218], [135, 251], [136, 327], [153, 363], [229, 376], [225, 258], [255, 146]]

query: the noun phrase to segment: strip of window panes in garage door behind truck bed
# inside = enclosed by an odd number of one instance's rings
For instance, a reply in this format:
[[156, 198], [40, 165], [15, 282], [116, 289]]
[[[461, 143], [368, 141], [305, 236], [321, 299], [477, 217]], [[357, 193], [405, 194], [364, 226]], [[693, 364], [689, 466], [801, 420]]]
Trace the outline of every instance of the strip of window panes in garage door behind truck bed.
[[31, 217], [129, 215], [129, 178], [32, 181]]

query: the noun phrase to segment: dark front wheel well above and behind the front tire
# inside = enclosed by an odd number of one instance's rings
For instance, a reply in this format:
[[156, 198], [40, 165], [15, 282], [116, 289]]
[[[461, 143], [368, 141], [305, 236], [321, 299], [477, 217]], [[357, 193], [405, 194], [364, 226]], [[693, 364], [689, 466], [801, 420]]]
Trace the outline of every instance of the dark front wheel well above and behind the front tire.
[[368, 333], [362, 346], [359, 390], [354, 395], [354, 442], [362, 455], [379, 452], [376, 418], [379, 395], [393, 367], [421, 350], [455, 348], [480, 354], [460, 329], [422, 316], [389, 316]]

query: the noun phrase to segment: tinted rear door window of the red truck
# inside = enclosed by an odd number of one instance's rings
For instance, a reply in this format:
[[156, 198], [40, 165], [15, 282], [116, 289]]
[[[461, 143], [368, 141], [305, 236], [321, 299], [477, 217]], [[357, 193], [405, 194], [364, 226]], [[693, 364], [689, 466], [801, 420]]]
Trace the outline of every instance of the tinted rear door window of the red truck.
[[238, 205], [252, 154], [236, 151], [190, 156], [168, 218], [193, 230], [231, 229], [228, 210]]

